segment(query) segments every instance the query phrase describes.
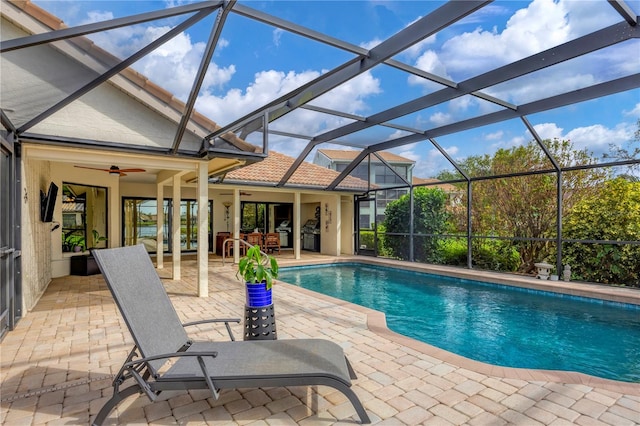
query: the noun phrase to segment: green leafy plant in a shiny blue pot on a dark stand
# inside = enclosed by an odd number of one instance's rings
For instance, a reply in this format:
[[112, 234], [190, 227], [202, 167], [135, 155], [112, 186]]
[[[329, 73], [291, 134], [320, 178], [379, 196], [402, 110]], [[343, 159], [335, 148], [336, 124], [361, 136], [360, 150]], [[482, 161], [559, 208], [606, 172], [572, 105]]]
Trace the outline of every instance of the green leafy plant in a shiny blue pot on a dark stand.
[[254, 245], [247, 250], [238, 263], [236, 277], [242, 277], [247, 290], [247, 306], [261, 308], [271, 305], [271, 288], [278, 278], [278, 261], [260, 251]]

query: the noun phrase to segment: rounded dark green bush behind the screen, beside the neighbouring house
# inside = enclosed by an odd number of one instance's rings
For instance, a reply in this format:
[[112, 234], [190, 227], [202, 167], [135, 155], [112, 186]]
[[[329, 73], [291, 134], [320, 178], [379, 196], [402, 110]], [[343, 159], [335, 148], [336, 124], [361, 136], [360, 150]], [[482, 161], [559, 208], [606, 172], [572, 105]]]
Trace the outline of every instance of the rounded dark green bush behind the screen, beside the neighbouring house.
[[[447, 194], [440, 188], [418, 187], [413, 190], [414, 259], [420, 262], [437, 262], [438, 238], [446, 229], [448, 213], [445, 205]], [[385, 210], [383, 245], [388, 253], [400, 259], [409, 259], [409, 243], [405, 235], [410, 231], [409, 194], [389, 203]], [[415, 234], [422, 234], [415, 236]]]

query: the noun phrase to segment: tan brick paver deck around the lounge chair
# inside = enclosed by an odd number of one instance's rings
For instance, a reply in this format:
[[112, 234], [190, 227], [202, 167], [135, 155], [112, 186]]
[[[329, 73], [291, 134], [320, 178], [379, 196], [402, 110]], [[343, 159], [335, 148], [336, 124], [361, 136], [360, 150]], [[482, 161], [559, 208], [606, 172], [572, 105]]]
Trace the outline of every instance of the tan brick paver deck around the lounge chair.
[[[196, 296], [194, 262], [183, 262], [182, 280], [165, 280], [184, 321], [243, 313], [243, 286], [235, 270], [219, 262], [210, 266], [208, 298]], [[322, 337], [343, 346], [358, 374], [354, 390], [374, 424], [640, 423], [640, 384], [477, 363], [390, 332], [375, 311], [282, 283], [274, 297], [280, 339]], [[226, 339], [224, 327], [190, 331], [196, 339]], [[242, 324], [234, 332], [242, 336]], [[53, 280], [35, 309], [0, 344], [0, 423], [89, 424], [111, 396], [112, 375], [131, 346], [101, 276]], [[341, 393], [316, 386], [225, 390], [217, 401], [208, 391], [166, 392], [154, 403], [134, 396], [106, 423], [356, 422]]]

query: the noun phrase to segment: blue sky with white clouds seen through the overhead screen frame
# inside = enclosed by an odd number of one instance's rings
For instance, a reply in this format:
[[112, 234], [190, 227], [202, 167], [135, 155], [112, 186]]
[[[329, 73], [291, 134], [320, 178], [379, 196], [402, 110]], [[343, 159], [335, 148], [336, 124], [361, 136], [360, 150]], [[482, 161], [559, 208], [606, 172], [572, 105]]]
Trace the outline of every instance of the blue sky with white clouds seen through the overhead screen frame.
[[[182, 1], [35, 1], [69, 25], [96, 22], [184, 4]], [[636, 14], [640, 0], [627, 0]], [[353, 45], [370, 48], [441, 5], [439, 1], [240, 1], [306, 28]], [[215, 15], [215, 14], [214, 14]], [[186, 99], [212, 20], [190, 29], [134, 68]], [[396, 56], [402, 62], [456, 82], [491, 68], [524, 58], [588, 32], [620, 22], [605, 0], [496, 1], [463, 21]], [[150, 22], [110, 31], [93, 39], [101, 47], [128, 55], [175, 25], [176, 19]], [[301, 36], [231, 14], [196, 108], [221, 125], [259, 108], [352, 58]], [[640, 41], [635, 40], [568, 61], [517, 84], [503, 84], [484, 92], [522, 104], [596, 82], [637, 73]], [[368, 116], [409, 101], [442, 86], [378, 66], [314, 100], [312, 104]], [[472, 96], [400, 117], [394, 123], [426, 130], [453, 120], [474, 117], [497, 107]], [[570, 139], [600, 157], [610, 144], [629, 147], [640, 118], [640, 90], [573, 105], [528, 117], [543, 138]], [[317, 135], [349, 120], [311, 111], [296, 111], [277, 122], [287, 132]], [[343, 141], [370, 144], [402, 136], [393, 129], [371, 129]], [[253, 136], [257, 141], [259, 134]], [[249, 139], [251, 140], [251, 138]], [[495, 152], [531, 140], [520, 120], [499, 123], [462, 134], [443, 136], [438, 143], [456, 159]], [[635, 142], [637, 143], [637, 142]], [[272, 137], [271, 149], [291, 156], [305, 140]], [[323, 145], [322, 148], [335, 148]], [[435, 175], [446, 160], [427, 143], [394, 150], [416, 161], [416, 174]]]

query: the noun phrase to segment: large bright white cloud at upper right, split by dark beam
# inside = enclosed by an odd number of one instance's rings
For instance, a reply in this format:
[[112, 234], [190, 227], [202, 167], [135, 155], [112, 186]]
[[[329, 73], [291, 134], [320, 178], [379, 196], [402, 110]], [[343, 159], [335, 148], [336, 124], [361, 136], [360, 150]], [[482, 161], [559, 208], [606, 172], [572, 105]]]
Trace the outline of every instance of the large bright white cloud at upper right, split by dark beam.
[[[484, 29], [478, 27], [473, 31], [455, 35], [446, 40], [438, 50], [436, 46], [422, 46], [424, 50], [416, 55], [414, 65], [420, 69], [459, 81], [464, 80], [497, 66], [530, 56], [550, 47], [562, 44], [574, 37], [576, 33], [583, 33], [586, 28], [593, 30], [602, 24], [589, 21], [576, 23], [578, 11], [583, 13], [584, 5], [576, 5], [566, 0], [533, 0], [526, 7], [517, 10], [506, 22], [504, 28], [493, 27]], [[517, 4], [517, 3], [516, 3]], [[483, 13], [492, 15], [504, 14], [504, 8], [486, 9]], [[576, 16], [572, 16], [571, 14]], [[467, 22], [468, 23], [468, 22]], [[580, 25], [580, 28], [577, 27]], [[629, 61], [627, 61], [629, 62]], [[505, 83], [491, 89], [483, 89], [493, 96], [516, 104], [530, 102], [553, 94], [575, 90], [593, 84], [597, 79], [591, 75], [593, 66], [589, 62], [576, 66], [553, 67], [541, 73], [534, 73], [522, 77], [514, 83]], [[583, 70], [576, 74], [576, 69]], [[410, 76], [410, 84], [423, 85], [425, 91], [437, 90], [442, 86], [424, 79]], [[479, 102], [477, 99], [467, 99], [464, 102], [450, 103], [449, 115], [445, 121], [460, 117], [461, 112], [472, 108], [478, 113], [495, 110], [493, 104]], [[443, 123], [443, 115], [433, 117], [434, 122]]]

